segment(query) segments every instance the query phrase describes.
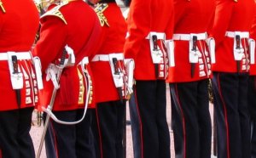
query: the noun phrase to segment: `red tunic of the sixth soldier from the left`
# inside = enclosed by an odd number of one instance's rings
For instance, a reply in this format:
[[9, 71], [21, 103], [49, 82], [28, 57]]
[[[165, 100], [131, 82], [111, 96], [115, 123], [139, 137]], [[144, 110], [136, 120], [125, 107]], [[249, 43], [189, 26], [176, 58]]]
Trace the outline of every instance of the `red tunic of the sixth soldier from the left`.
[[[216, 42], [216, 64], [212, 65], [212, 71], [237, 72], [236, 60], [234, 59], [234, 39], [225, 37], [226, 31], [250, 31], [253, 22], [254, 0], [217, 0], [214, 24], [210, 36]], [[246, 11], [245, 11], [246, 10]], [[247, 51], [247, 39], [241, 39], [245, 54]], [[247, 59], [243, 59], [246, 65]], [[240, 71], [248, 71], [246, 69]]]

